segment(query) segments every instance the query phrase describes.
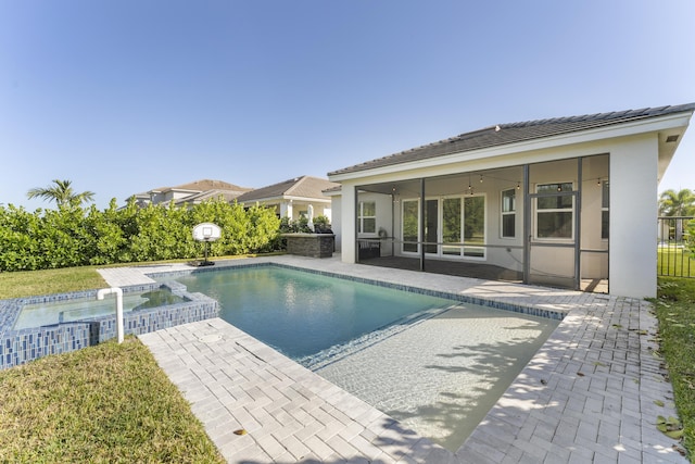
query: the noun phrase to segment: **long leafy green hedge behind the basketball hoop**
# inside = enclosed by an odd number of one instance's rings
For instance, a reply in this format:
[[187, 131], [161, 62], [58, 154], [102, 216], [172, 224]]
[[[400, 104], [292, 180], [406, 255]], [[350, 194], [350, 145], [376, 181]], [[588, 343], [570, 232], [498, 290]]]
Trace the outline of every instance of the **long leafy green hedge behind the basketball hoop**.
[[92, 205], [33, 213], [10, 204], [0, 206], [0, 271], [200, 258], [204, 243], [193, 240], [192, 229], [206, 222], [223, 231], [211, 255], [270, 251], [279, 242], [274, 210], [222, 199], [190, 208], [130, 201], [122, 209], [114, 199], [104, 211]]

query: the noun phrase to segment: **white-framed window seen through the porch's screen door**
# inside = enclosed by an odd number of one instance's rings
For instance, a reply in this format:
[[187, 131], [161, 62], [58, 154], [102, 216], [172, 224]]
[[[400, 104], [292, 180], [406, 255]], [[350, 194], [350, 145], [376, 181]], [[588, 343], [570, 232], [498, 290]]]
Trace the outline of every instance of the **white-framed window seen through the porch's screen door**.
[[574, 196], [572, 183], [543, 184], [536, 187], [536, 238], [572, 239], [574, 222]]

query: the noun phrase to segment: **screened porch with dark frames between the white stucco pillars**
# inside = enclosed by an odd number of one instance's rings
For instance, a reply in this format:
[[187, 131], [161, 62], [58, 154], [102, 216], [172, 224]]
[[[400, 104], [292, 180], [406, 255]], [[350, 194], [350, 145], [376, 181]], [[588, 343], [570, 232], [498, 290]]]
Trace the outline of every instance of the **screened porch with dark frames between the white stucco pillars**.
[[355, 260], [608, 291], [609, 155], [359, 185]]

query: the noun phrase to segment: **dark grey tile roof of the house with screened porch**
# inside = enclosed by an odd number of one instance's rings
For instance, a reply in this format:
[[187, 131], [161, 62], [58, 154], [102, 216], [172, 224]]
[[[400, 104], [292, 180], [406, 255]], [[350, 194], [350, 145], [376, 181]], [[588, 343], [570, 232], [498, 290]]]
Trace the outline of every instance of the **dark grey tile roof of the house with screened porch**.
[[413, 148], [389, 156], [379, 158], [328, 173], [331, 175], [355, 173], [376, 167], [391, 166], [413, 161], [427, 160], [446, 154], [462, 153], [484, 148], [546, 138], [563, 134], [606, 127], [627, 122], [636, 122], [668, 114], [695, 111], [695, 103], [675, 106], [645, 108], [642, 110], [616, 111], [610, 113], [586, 114], [583, 116], [556, 117], [551, 120], [528, 121], [525, 123], [498, 124], [460, 134], [446, 140]]

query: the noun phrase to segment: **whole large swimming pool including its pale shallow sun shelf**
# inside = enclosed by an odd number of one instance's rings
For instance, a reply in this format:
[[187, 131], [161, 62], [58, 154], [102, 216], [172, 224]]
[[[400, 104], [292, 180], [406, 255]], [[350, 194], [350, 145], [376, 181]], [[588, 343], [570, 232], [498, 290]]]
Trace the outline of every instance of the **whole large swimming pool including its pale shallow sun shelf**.
[[217, 299], [230, 324], [451, 451], [559, 324], [520, 308], [275, 266], [177, 281]]

